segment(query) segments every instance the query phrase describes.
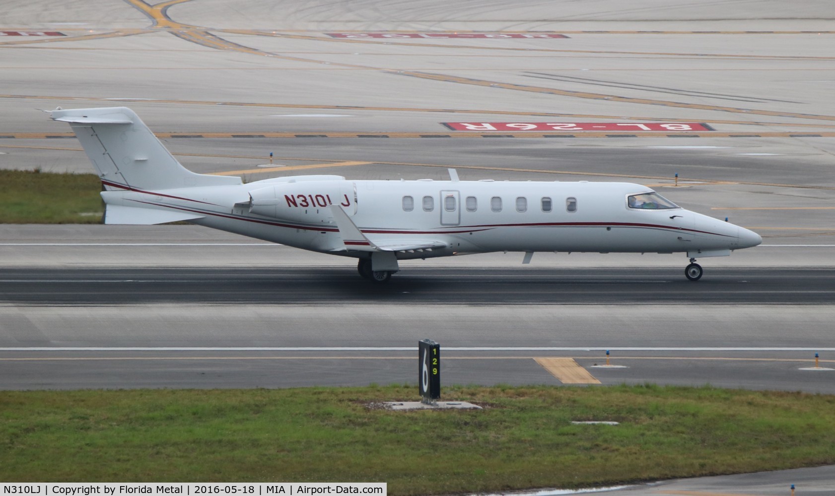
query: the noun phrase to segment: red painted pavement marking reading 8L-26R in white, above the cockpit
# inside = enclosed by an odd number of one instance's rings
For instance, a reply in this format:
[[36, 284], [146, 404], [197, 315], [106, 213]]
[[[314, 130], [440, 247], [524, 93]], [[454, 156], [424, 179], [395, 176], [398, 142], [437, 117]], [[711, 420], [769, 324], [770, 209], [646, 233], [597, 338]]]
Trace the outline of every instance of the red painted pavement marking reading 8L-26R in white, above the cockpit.
[[442, 123], [453, 131], [713, 131], [706, 123]]

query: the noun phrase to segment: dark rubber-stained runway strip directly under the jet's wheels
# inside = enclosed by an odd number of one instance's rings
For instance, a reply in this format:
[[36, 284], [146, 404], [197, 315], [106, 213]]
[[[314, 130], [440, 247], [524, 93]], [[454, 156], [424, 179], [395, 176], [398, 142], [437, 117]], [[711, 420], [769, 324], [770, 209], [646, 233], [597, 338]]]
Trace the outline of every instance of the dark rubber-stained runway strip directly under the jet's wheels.
[[0, 300], [26, 305], [832, 304], [835, 268], [407, 268], [389, 283], [346, 268], [4, 268]]

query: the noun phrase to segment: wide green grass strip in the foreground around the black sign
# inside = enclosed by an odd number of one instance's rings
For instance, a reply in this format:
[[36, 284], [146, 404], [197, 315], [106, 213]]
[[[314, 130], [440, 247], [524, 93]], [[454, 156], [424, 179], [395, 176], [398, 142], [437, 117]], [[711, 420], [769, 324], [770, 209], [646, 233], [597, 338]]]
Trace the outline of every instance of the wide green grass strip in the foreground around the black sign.
[[[835, 463], [835, 396], [716, 388], [0, 393], [0, 480], [387, 482], [390, 494], [577, 488]], [[572, 425], [614, 420], [618, 426]]]

